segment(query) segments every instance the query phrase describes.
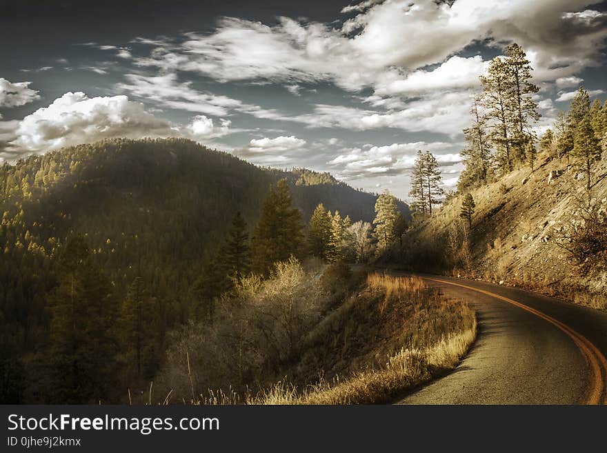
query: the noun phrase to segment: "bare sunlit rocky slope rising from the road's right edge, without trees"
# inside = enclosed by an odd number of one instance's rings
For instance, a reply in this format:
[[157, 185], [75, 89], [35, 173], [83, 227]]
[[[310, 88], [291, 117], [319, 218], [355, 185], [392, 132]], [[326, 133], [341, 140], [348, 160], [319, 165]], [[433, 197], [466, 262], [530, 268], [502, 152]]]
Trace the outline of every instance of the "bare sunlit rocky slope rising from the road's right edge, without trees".
[[[595, 175], [593, 198], [606, 206], [606, 159], [597, 163]], [[592, 265], [579, 265], [559, 246], [567, 245], [559, 228], [576, 221], [579, 201], [587, 199], [582, 178], [566, 158], [539, 154], [535, 171], [519, 168], [470, 190], [476, 208], [468, 256], [463, 239], [467, 225], [459, 217], [464, 196], [459, 194], [435, 216], [416, 223], [400, 261], [410, 268], [521, 285], [604, 308], [607, 272], [600, 257]], [[424, 267], [412, 265], [422, 255]]]

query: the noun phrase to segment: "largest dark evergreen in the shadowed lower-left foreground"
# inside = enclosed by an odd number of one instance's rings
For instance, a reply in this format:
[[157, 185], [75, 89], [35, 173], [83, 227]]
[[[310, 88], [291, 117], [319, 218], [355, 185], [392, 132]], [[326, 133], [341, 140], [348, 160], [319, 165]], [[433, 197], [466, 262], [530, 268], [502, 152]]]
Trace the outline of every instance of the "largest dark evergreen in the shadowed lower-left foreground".
[[59, 268], [59, 285], [50, 295], [48, 393], [54, 402], [99, 401], [115, 382], [117, 304], [81, 236], [67, 243]]

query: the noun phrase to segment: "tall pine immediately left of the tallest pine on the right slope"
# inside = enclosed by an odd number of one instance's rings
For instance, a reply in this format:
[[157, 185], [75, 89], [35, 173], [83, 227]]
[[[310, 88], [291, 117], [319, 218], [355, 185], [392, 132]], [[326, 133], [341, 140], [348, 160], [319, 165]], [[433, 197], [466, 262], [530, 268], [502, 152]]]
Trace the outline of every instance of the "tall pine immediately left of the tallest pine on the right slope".
[[513, 170], [511, 130], [516, 108], [513, 73], [504, 59], [495, 57], [490, 61], [487, 73], [479, 79], [483, 87], [481, 105], [491, 124], [490, 140], [498, 150], [501, 167]]

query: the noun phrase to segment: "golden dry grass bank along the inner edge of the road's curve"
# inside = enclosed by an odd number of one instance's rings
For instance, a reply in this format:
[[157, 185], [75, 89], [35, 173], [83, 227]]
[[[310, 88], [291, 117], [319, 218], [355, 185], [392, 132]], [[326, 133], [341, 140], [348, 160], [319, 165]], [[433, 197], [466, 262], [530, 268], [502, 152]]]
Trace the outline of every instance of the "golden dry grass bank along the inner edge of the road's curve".
[[[356, 308], [368, 315], [373, 311], [379, 314], [379, 322], [375, 316], [374, 323], [379, 330], [364, 332], [378, 344], [372, 345], [371, 351], [365, 350], [363, 357], [369, 359], [377, 355], [378, 349], [385, 351], [388, 345], [394, 352], [384, 355], [384, 363], [353, 372], [346, 379], [339, 376], [331, 381], [320, 379], [301, 391], [283, 379], [248, 403], [387, 403], [432, 376], [455, 368], [475, 339], [476, 319], [472, 310], [464, 303], [445, 299], [417, 277], [370, 274], [367, 288], [364, 299], [368, 305], [351, 305], [340, 316], [350, 316]], [[397, 342], [400, 346], [394, 350]]]

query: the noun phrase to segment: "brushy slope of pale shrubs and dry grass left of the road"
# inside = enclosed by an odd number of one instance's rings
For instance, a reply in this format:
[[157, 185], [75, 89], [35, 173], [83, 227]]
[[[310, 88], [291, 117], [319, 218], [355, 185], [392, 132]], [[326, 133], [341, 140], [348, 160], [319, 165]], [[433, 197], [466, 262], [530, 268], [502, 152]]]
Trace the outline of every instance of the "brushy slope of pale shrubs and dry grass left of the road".
[[454, 368], [476, 334], [468, 305], [421, 279], [339, 263], [281, 263], [221, 307], [175, 334], [140, 402], [386, 403]]

